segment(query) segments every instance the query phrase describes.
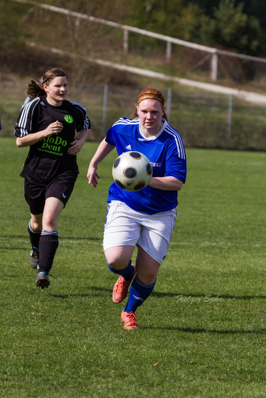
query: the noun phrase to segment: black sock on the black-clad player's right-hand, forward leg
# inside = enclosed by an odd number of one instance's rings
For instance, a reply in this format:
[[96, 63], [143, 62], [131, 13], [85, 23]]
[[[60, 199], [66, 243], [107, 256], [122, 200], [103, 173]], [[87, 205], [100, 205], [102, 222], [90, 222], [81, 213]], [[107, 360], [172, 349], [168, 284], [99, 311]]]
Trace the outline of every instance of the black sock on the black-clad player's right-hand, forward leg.
[[53, 265], [53, 258], [58, 247], [58, 231], [41, 230], [39, 241], [39, 265], [38, 272], [49, 272]]

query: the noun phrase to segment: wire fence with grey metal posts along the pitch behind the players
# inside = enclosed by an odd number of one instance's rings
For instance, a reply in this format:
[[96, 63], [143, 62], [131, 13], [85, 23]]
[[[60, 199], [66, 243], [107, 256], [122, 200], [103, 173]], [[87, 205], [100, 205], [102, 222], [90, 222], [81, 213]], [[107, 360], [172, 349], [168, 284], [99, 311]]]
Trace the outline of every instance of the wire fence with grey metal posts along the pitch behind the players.
[[[4, 88], [4, 86], [3, 86]], [[120, 117], [130, 117], [134, 103], [144, 87], [79, 84], [69, 87], [68, 98], [87, 108], [92, 133], [89, 140], [100, 141], [108, 128]], [[159, 87], [166, 100], [170, 124], [179, 131], [185, 146], [266, 150], [265, 106], [254, 105], [233, 96], [187, 88]], [[10, 92], [0, 96], [2, 130], [12, 136], [20, 107], [25, 99]]]

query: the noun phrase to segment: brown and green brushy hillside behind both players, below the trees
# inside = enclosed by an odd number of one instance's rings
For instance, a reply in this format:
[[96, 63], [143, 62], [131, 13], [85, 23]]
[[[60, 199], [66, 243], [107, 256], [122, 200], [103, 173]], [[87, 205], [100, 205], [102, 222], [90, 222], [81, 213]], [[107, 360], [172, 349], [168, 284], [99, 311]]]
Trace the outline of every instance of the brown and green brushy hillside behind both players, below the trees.
[[[12, 2], [8, 2], [10, 6]], [[56, 3], [56, 4], [55, 4]], [[63, 4], [64, 3], [64, 4]], [[120, 2], [109, 10], [88, 2], [53, 2], [59, 7], [115, 20]], [[2, 135], [12, 135], [14, 121], [25, 98], [26, 83], [32, 76], [41, 76], [48, 68], [60, 65], [67, 70], [71, 99], [80, 101], [89, 109], [93, 121], [91, 139], [102, 136], [102, 102], [104, 85], [110, 86], [107, 126], [118, 117], [130, 115], [138, 90], [154, 85], [163, 90], [173, 90], [171, 123], [182, 133], [187, 146], [226, 147], [228, 98], [213, 93], [200, 92], [171, 82], [156, 81], [98, 66], [91, 59], [111, 60], [121, 64], [151, 69], [173, 76], [202, 82], [210, 80], [210, 59], [202, 62], [206, 53], [186, 47], [173, 46], [171, 62], [166, 63], [165, 43], [130, 33], [129, 54], [122, 51], [122, 31], [84, 20], [75, 20], [29, 6], [16, 5], [22, 21], [19, 39], [9, 38], [0, 46], [0, 114]], [[39, 43], [32, 48], [26, 41]], [[43, 47], [53, 47], [67, 52], [57, 55]], [[253, 80], [244, 80], [240, 60], [219, 57], [218, 84], [260, 94], [266, 89], [266, 65], [256, 64]], [[70, 98], [70, 97], [69, 97]], [[232, 123], [232, 148], [266, 149], [264, 138], [264, 107], [234, 100]]]

